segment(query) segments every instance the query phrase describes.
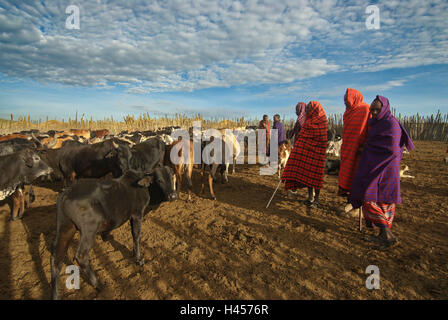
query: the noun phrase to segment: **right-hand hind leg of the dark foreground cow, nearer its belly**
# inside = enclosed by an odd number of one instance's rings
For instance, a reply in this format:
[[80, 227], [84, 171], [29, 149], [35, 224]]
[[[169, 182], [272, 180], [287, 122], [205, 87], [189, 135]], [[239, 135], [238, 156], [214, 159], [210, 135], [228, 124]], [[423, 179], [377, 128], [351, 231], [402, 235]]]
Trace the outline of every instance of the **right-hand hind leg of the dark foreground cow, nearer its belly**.
[[92, 268], [90, 267], [89, 261], [89, 252], [95, 243], [95, 238], [96, 231], [91, 227], [88, 230], [83, 230], [81, 232], [81, 239], [79, 240], [79, 247], [76, 251], [75, 259], [81, 267], [82, 272], [87, 276], [87, 280], [89, 281], [89, 283], [93, 287], [100, 289], [101, 285], [95, 275], [95, 272], [93, 272]]

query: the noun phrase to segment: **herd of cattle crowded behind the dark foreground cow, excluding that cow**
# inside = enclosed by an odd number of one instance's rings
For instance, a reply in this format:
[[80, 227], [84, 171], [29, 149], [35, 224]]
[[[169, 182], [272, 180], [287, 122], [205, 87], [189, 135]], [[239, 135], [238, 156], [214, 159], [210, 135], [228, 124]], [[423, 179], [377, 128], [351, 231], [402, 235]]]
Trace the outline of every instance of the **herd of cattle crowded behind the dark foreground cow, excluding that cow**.
[[[123, 131], [117, 135], [104, 130], [71, 129], [69, 131], [38, 130], [22, 131], [20, 133], [0, 136], [0, 201], [6, 201], [11, 208], [11, 220], [23, 216], [25, 205], [25, 185], [39, 177], [52, 181], [62, 181], [63, 187], [69, 186], [76, 178], [101, 178], [111, 174], [120, 177], [129, 169], [149, 172], [156, 166], [170, 166], [174, 172], [176, 185], [181, 185], [185, 173], [188, 185], [188, 200], [191, 200], [193, 160], [189, 163], [174, 165], [170, 161], [171, 148], [176, 145], [171, 137], [180, 127], [164, 127], [156, 131]], [[254, 130], [248, 127], [246, 130]], [[224, 136], [225, 138], [225, 136]], [[233, 145], [233, 159], [241, 152], [236, 139]], [[279, 147], [279, 175], [291, 152], [288, 142]], [[341, 137], [334, 132], [328, 133], [327, 154], [339, 157]], [[225, 144], [223, 144], [225, 145]], [[204, 148], [204, 144], [202, 146]], [[194, 157], [193, 143], [190, 141], [190, 157]], [[204, 166], [203, 166], [204, 167]], [[210, 166], [209, 186], [212, 198], [213, 180], [218, 169], [224, 183], [228, 182], [229, 164]], [[337, 173], [339, 160], [327, 160], [327, 173]], [[204, 185], [202, 192], [204, 192]], [[32, 187], [29, 188], [29, 198], [34, 198]]]

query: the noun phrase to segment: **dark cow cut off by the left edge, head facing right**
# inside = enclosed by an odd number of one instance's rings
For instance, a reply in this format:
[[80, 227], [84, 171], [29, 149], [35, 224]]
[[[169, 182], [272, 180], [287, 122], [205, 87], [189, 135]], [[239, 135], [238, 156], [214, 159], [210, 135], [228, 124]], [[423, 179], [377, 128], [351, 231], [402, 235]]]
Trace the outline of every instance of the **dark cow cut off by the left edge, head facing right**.
[[25, 210], [24, 185], [50, 174], [52, 169], [30, 149], [0, 156], [0, 168], [0, 201], [9, 201], [11, 220], [21, 219]]

